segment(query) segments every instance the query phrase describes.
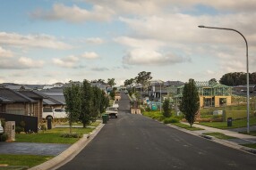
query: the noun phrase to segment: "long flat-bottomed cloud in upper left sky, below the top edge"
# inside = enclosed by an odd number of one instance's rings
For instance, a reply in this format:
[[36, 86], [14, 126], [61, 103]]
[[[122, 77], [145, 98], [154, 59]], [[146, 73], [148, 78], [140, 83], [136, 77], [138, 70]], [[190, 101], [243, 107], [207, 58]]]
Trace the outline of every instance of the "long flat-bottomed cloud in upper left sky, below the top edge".
[[91, 11], [82, 9], [77, 5], [72, 7], [64, 4], [54, 4], [51, 11], [37, 10], [30, 13], [30, 16], [35, 19], [43, 20], [66, 20], [69, 22], [84, 22], [88, 20], [106, 21], [111, 20], [114, 12], [109, 8], [101, 5], [94, 5]]

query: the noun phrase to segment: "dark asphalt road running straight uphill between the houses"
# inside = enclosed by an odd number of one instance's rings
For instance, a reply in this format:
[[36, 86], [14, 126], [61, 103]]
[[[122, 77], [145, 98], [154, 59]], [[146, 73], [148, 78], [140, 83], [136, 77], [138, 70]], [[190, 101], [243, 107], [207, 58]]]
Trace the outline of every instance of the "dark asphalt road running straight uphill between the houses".
[[255, 155], [130, 114], [124, 93], [119, 107], [118, 118], [110, 119], [92, 142], [60, 170], [256, 169]]

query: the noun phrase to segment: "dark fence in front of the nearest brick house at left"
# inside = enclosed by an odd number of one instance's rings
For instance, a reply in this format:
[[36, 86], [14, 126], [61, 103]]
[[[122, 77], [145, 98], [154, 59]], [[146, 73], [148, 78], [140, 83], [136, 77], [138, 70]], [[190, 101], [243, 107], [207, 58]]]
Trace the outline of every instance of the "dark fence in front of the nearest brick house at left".
[[15, 121], [15, 126], [21, 126], [21, 121], [25, 122], [25, 132], [38, 133], [38, 117], [30, 117], [25, 115], [14, 115], [9, 113], [0, 113], [0, 118], [4, 121]]

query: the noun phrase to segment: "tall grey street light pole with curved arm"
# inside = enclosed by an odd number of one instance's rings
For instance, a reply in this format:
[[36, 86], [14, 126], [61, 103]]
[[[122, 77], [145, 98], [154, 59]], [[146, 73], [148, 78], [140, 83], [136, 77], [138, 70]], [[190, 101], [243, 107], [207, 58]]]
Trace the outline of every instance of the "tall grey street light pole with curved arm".
[[[206, 26], [198, 26], [199, 28], [214, 28], [214, 29], [225, 29], [225, 30], [231, 30], [231, 31], [235, 31], [238, 34], [240, 34], [240, 36], [243, 36], [243, 34], [241, 32], [239, 32], [238, 30], [235, 30], [234, 28], [216, 28], [216, 27], [206, 27]], [[250, 109], [249, 109], [249, 102], [250, 102], [250, 96], [249, 96], [249, 60], [248, 60], [248, 43], [246, 38], [243, 36], [243, 39], [245, 41], [245, 45], [246, 45], [246, 82], [247, 82], [247, 134], [250, 133]]]

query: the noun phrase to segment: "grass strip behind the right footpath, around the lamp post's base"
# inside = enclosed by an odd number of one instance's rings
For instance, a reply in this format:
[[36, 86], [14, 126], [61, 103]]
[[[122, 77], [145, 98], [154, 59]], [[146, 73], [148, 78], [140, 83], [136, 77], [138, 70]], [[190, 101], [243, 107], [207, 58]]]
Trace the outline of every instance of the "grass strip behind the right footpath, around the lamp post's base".
[[[215, 127], [218, 129], [234, 129], [239, 127], [246, 127], [247, 118], [233, 120], [232, 126], [227, 126], [226, 122], [201, 122], [199, 124]], [[256, 117], [250, 117], [250, 125], [256, 125]]]

